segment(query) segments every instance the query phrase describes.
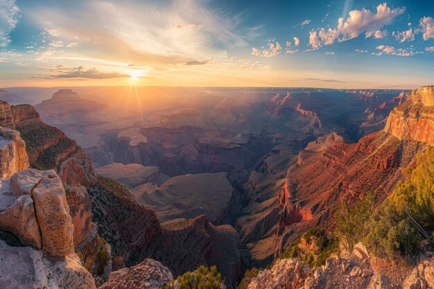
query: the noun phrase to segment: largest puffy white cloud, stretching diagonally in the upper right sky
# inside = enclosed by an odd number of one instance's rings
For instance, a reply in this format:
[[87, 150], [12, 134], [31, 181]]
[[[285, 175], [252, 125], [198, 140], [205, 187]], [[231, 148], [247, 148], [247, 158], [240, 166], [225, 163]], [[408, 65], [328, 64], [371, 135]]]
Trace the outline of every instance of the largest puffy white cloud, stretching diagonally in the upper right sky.
[[[314, 31], [315, 33], [311, 32], [309, 43], [313, 49], [318, 49], [322, 44], [330, 45], [336, 40], [343, 42], [358, 37], [362, 33], [365, 33], [365, 37], [372, 37], [383, 26], [391, 24], [392, 19], [401, 15], [405, 10], [406, 8], [392, 10], [388, 7], [387, 3], [377, 6], [376, 13], [365, 8], [362, 10], [352, 10], [348, 13], [349, 17], [347, 19], [342, 17], [338, 19], [338, 26], [336, 28], [329, 28], [327, 30], [321, 28], [318, 31], [318, 36], [316, 35], [316, 31]], [[320, 43], [318, 43], [318, 39], [315, 39], [315, 37], [319, 37]]]

